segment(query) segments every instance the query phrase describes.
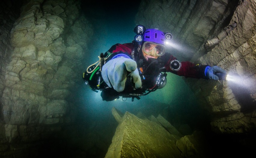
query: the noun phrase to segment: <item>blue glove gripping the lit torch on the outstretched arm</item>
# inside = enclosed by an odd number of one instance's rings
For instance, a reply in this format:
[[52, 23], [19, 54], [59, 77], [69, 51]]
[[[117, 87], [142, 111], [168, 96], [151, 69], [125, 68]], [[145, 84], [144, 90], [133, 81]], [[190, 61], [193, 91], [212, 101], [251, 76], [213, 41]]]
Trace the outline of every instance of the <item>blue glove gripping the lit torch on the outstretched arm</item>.
[[226, 80], [226, 77], [224, 77], [226, 74], [227, 72], [218, 66], [207, 66], [205, 68], [205, 76], [207, 79]]

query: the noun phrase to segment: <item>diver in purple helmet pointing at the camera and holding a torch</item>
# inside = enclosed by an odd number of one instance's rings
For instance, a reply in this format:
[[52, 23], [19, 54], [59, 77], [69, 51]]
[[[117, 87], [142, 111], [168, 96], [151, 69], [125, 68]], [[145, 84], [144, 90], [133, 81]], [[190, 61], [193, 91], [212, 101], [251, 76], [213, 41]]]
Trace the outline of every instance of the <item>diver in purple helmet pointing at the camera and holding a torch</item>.
[[93, 91], [101, 91], [102, 100], [140, 99], [166, 85], [166, 72], [214, 80], [226, 75], [218, 66], [178, 61], [166, 52], [165, 42], [172, 39], [170, 33], [146, 29], [143, 25], [137, 25], [134, 32], [136, 36], [131, 43], [111, 46], [105, 54], [100, 54], [98, 64], [90, 65], [83, 73], [84, 82]]

